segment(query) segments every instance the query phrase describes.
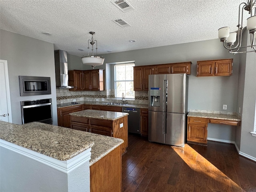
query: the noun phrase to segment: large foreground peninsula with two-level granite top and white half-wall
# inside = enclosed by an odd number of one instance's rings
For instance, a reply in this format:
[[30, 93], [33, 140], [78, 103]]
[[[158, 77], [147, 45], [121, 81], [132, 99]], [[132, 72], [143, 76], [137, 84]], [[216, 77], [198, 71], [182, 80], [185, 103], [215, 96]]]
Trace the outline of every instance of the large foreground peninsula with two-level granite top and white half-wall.
[[[17, 125], [0, 121], [0, 190], [68, 192], [114, 188], [120, 192], [122, 143], [118, 138], [39, 122]], [[98, 186], [98, 181], [106, 179], [102, 172], [108, 171], [109, 165], [115, 180], [107, 178], [107, 185]]]

